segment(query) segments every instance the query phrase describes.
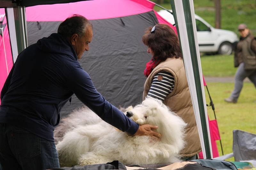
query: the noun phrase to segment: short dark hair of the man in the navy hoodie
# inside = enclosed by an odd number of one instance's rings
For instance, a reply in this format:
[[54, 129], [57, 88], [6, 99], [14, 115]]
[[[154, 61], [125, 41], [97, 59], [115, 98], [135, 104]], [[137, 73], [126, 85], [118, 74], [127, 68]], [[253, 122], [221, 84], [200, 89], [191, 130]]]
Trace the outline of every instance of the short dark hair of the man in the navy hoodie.
[[71, 37], [73, 34], [78, 34], [81, 37], [84, 35], [88, 25], [92, 27], [92, 23], [88, 19], [82, 15], [75, 14], [60, 24], [58, 33], [64, 37]]

